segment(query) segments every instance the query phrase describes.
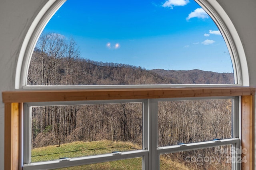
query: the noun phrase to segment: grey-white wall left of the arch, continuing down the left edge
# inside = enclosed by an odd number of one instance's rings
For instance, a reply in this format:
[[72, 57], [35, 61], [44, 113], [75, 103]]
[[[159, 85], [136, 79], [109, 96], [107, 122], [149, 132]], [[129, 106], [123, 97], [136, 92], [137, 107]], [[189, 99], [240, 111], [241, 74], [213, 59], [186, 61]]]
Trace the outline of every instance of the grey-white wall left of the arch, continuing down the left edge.
[[48, 0], [0, 0], [0, 170], [4, 170], [2, 91], [14, 90], [20, 47], [33, 19]]

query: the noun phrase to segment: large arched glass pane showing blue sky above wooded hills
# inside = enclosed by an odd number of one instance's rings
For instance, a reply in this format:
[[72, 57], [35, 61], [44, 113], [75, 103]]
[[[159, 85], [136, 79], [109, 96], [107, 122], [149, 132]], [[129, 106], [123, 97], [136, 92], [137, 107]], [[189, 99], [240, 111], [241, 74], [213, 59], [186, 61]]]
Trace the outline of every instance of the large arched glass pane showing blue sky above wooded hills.
[[67, 0], [36, 43], [27, 84], [233, 84], [233, 73], [194, 1]]

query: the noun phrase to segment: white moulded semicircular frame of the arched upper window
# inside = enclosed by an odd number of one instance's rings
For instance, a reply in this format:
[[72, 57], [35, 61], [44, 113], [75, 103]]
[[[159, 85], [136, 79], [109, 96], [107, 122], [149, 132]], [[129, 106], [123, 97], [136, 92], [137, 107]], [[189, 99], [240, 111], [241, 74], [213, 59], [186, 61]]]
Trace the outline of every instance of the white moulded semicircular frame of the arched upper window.
[[[30, 64], [30, 59], [36, 42], [42, 33], [44, 27], [55, 14], [55, 12], [64, 4], [66, 0], [49, 0], [42, 10], [38, 13], [30, 26], [24, 42], [22, 44], [20, 54], [18, 57], [16, 76], [15, 76], [15, 89], [30, 89], [30, 88], [49, 88], [42, 86], [27, 86], [27, 74]], [[234, 70], [234, 85], [236, 86], [249, 86], [249, 74], [248, 66], [246, 62], [246, 56], [240, 37], [234, 27], [232, 21], [223, 10], [223, 8], [216, 2], [216, 0], [195, 0], [204, 10], [209, 14], [212, 20], [216, 23], [222, 36], [228, 47], [230, 58], [232, 60]], [[159, 86], [159, 85], [158, 85]], [[162, 86], [162, 85], [161, 85]], [[175, 85], [168, 85], [175, 86]], [[177, 86], [177, 85], [176, 85]], [[200, 86], [200, 85], [189, 85], [189, 86]], [[203, 85], [206, 86], [206, 85]], [[209, 85], [208, 85], [209, 86]], [[210, 85], [211, 86], [211, 85]], [[218, 85], [220, 86], [220, 85]], [[225, 86], [225, 85], [223, 85]], [[230, 86], [230, 84], [228, 85]], [[106, 86], [98, 86], [99, 88], [106, 88]], [[98, 88], [97, 87], [97, 88]], [[110, 87], [110, 86], [108, 86]], [[118, 88], [118, 86], [111, 86], [112, 88]], [[120, 87], [120, 86], [119, 86]], [[129, 87], [136, 87], [135, 85]], [[143, 87], [146, 87], [143, 86]], [[152, 85], [150, 86], [152, 87]], [[56, 88], [51, 86], [50, 88]], [[58, 86], [57, 88], [96, 88], [96, 86]]]

